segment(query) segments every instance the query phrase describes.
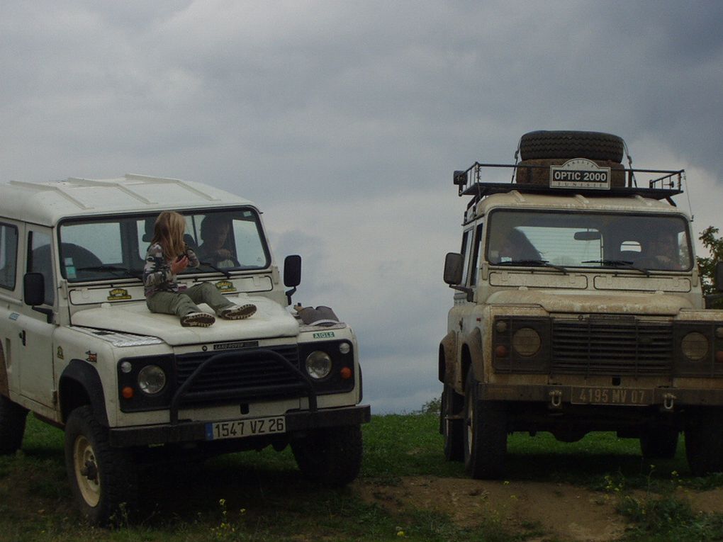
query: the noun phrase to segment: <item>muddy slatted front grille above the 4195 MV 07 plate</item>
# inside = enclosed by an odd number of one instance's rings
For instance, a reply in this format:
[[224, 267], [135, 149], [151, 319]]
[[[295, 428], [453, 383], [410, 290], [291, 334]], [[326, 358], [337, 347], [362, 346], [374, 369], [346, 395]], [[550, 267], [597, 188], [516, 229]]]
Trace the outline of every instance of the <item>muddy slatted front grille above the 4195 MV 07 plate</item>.
[[552, 373], [669, 375], [673, 330], [670, 324], [635, 319], [552, 322]]

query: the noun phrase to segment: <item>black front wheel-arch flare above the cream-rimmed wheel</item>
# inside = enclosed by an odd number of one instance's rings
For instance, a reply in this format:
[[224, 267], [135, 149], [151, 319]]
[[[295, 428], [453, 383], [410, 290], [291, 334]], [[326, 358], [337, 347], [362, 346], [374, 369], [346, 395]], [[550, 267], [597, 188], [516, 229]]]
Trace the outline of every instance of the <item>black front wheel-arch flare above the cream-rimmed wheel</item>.
[[74, 408], [90, 403], [95, 420], [108, 427], [106, 396], [98, 371], [86, 361], [72, 359], [60, 376], [60, 408], [63, 421]]

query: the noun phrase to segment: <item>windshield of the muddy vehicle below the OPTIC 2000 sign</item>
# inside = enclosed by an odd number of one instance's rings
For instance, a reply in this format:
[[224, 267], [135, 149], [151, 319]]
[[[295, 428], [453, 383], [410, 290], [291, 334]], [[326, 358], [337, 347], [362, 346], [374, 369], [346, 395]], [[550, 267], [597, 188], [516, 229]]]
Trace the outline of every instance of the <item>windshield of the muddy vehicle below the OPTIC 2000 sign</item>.
[[665, 271], [693, 266], [688, 223], [670, 215], [495, 210], [487, 220], [485, 256], [500, 265]]

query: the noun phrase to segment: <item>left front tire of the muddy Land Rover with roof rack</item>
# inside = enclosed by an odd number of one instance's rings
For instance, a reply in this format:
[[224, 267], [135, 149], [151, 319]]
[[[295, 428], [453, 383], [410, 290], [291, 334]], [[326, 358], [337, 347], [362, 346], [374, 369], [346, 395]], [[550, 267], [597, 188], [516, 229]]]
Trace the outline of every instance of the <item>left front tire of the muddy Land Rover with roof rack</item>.
[[471, 368], [464, 398], [464, 468], [472, 478], [502, 478], [507, 456], [507, 406], [480, 399]]

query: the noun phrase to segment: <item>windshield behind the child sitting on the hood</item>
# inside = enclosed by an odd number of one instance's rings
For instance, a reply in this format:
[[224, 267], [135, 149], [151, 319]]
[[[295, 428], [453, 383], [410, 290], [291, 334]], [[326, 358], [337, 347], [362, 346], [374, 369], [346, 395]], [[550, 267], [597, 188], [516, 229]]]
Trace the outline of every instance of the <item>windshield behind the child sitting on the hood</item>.
[[[270, 255], [258, 213], [249, 208], [181, 212], [184, 239], [202, 262], [184, 273], [265, 269]], [[68, 220], [59, 228], [61, 272], [70, 282], [140, 278], [158, 212]]]

